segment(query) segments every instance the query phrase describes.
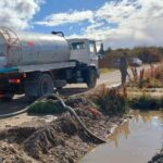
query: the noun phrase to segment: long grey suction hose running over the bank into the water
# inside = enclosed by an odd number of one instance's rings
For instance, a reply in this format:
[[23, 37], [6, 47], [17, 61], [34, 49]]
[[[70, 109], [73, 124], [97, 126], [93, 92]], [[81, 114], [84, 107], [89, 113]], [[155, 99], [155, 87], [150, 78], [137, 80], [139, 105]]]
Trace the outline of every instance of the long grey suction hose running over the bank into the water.
[[10, 113], [10, 114], [0, 115], [0, 118], [7, 118], [7, 117], [12, 117], [12, 116], [16, 116], [16, 115], [23, 114], [23, 113], [27, 112], [28, 109], [29, 109], [33, 104], [35, 104], [35, 103], [37, 103], [37, 102], [39, 102], [39, 101], [41, 101], [41, 100], [43, 100], [43, 99], [52, 99], [52, 100], [57, 99], [57, 100], [59, 100], [59, 101], [61, 102], [61, 105], [62, 105], [65, 110], [67, 110], [71, 114], [74, 115], [74, 117], [75, 117], [75, 120], [78, 122], [78, 124], [83, 127], [83, 129], [84, 129], [90, 137], [92, 137], [95, 140], [99, 141], [100, 143], [105, 143], [105, 142], [106, 142], [104, 139], [101, 139], [101, 138], [99, 138], [98, 136], [96, 136], [95, 134], [92, 134], [92, 133], [86, 127], [86, 125], [82, 122], [82, 120], [80, 120], [79, 116], [76, 114], [76, 112], [75, 112], [71, 106], [66, 105], [65, 102], [63, 101], [63, 99], [62, 99], [61, 97], [57, 96], [57, 95], [47, 95], [47, 96], [43, 96], [43, 97], [39, 98], [38, 100], [36, 100], [36, 101], [35, 101], [34, 103], [32, 103], [30, 105], [28, 105], [27, 108], [25, 108], [24, 110], [18, 111], [18, 112], [14, 112], [14, 113]]

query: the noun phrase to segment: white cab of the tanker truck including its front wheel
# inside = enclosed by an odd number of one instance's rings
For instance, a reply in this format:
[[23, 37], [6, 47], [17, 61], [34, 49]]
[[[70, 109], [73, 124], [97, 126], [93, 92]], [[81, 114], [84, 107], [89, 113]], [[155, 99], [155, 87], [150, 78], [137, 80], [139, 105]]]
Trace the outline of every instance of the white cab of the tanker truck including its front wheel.
[[99, 78], [99, 55], [96, 41], [87, 38], [67, 39], [71, 49], [71, 61], [77, 61], [82, 72], [83, 82], [88, 88], [93, 88]]

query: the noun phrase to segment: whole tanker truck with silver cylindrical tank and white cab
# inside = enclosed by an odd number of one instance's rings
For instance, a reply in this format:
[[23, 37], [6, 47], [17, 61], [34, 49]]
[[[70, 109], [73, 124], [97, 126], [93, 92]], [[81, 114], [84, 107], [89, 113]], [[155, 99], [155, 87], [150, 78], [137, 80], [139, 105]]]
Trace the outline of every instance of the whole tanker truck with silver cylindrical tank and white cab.
[[0, 27], [1, 99], [12, 99], [15, 93], [39, 98], [66, 84], [96, 86], [99, 77], [96, 41], [66, 40], [60, 35], [15, 33]]

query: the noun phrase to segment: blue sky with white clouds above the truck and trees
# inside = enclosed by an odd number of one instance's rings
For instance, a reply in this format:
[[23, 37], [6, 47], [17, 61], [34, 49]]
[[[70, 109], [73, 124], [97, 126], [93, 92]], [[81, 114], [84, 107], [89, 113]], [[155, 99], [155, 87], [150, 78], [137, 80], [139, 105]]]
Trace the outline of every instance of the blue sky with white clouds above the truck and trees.
[[89, 37], [111, 48], [163, 46], [163, 0], [1, 0], [0, 24]]

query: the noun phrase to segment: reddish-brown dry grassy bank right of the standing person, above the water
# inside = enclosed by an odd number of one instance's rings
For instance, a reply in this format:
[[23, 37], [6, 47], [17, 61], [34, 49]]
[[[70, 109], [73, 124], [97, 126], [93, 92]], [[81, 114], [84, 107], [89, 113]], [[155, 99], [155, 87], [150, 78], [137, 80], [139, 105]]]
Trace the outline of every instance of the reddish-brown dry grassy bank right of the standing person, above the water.
[[[128, 97], [131, 108], [163, 109], [163, 67], [151, 65], [140, 73], [133, 68], [134, 79], [128, 83]], [[134, 93], [135, 91], [135, 93]]]

